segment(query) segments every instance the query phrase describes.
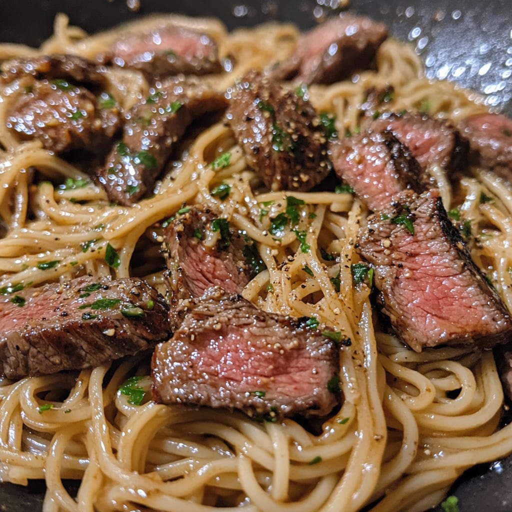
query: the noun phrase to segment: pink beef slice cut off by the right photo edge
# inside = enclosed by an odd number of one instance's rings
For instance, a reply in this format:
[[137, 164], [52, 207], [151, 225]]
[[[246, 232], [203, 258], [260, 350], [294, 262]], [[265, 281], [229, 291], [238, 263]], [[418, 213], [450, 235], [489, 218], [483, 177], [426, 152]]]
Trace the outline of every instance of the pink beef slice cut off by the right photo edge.
[[470, 140], [471, 163], [512, 183], [512, 119], [500, 114], [477, 114], [460, 123]]

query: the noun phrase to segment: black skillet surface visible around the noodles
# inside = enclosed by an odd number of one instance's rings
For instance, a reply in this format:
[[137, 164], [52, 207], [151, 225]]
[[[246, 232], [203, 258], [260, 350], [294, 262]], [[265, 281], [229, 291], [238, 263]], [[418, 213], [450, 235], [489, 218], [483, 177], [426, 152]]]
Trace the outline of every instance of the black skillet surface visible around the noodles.
[[[151, 12], [216, 16], [229, 29], [277, 19], [307, 29], [333, 14], [343, 0], [132, 0], [2, 1], [0, 40], [39, 45], [51, 35], [53, 18], [65, 12], [89, 32]], [[135, 3], [135, 2], [134, 2]], [[351, 0], [351, 8], [382, 20], [409, 40], [426, 62], [429, 78], [447, 78], [483, 94], [486, 104], [512, 115], [512, 12], [509, 0]], [[473, 468], [453, 488], [460, 512], [512, 511], [512, 456]], [[73, 487], [73, 485], [71, 485]], [[44, 484], [0, 484], [0, 511], [38, 512]], [[434, 509], [441, 512], [441, 507]], [[340, 511], [341, 512], [341, 511]]]

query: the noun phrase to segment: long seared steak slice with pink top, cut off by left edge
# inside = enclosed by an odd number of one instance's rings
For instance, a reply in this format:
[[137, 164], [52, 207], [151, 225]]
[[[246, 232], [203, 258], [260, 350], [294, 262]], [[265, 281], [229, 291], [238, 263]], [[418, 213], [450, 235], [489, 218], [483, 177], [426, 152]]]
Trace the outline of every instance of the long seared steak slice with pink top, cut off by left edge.
[[78, 278], [0, 298], [0, 362], [10, 379], [81, 370], [167, 339], [169, 307], [140, 279]]

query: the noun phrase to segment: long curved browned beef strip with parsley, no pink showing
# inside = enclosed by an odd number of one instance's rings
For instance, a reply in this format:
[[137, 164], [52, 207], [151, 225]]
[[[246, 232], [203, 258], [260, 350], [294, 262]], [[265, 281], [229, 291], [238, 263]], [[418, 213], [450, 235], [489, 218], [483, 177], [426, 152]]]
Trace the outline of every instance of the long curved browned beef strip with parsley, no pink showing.
[[223, 94], [199, 82], [165, 80], [127, 114], [123, 139], [98, 170], [112, 202], [132, 205], [152, 192], [155, 180], [187, 126], [227, 106]]

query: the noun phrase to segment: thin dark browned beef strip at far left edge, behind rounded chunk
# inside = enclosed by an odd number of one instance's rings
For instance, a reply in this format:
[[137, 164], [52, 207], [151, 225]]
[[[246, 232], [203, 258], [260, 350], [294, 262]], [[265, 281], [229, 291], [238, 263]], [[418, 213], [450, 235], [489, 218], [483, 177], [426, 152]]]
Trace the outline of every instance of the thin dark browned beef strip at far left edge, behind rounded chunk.
[[102, 69], [94, 62], [78, 55], [52, 54], [40, 57], [22, 57], [4, 62], [2, 70], [0, 83], [8, 83], [16, 78], [32, 76], [36, 79], [60, 78], [97, 86], [105, 84]]

